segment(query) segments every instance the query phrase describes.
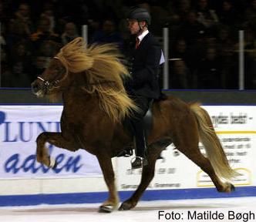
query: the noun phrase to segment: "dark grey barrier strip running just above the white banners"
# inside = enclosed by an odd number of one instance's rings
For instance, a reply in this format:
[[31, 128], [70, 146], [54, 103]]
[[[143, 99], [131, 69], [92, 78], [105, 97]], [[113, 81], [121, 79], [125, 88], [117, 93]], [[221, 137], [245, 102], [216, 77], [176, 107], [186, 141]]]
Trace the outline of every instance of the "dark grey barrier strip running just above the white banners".
[[[256, 90], [163, 90], [167, 95], [177, 96], [186, 102], [203, 104], [256, 104]], [[1, 89], [0, 104], [49, 103], [39, 99], [30, 89]]]

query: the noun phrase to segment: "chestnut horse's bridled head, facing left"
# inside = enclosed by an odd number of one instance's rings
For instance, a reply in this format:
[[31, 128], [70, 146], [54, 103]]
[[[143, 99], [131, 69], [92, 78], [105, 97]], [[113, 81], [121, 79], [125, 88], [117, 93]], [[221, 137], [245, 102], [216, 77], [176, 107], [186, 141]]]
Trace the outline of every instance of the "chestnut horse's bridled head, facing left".
[[65, 85], [66, 74], [66, 67], [58, 57], [54, 57], [42, 75], [32, 82], [32, 92], [39, 97], [59, 93]]

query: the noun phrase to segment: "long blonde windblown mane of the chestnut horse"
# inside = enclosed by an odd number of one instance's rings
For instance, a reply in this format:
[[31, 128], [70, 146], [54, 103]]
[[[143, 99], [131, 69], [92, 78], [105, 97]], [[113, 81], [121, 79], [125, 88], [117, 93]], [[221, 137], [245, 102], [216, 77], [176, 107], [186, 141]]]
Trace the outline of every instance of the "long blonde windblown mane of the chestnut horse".
[[85, 72], [88, 82], [83, 89], [99, 95], [101, 107], [113, 121], [130, 116], [132, 110], [139, 111], [123, 87], [123, 78], [130, 75], [120, 62], [122, 56], [115, 45], [88, 46], [79, 37], [62, 47], [57, 57], [67, 73]]

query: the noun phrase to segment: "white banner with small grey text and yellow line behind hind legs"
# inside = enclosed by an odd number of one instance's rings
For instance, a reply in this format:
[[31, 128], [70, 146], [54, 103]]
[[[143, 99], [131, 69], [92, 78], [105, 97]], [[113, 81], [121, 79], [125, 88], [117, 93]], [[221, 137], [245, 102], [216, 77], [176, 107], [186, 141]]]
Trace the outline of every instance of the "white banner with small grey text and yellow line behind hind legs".
[[[210, 114], [231, 167], [241, 175], [235, 186], [255, 186], [256, 106], [203, 106]], [[201, 153], [205, 153], [199, 144]], [[211, 178], [171, 144], [157, 160], [155, 177], [148, 190], [214, 187]], [[130, 158], [118, 158], [119, 190], [134, 190], [141, 170], [130, 170]]]

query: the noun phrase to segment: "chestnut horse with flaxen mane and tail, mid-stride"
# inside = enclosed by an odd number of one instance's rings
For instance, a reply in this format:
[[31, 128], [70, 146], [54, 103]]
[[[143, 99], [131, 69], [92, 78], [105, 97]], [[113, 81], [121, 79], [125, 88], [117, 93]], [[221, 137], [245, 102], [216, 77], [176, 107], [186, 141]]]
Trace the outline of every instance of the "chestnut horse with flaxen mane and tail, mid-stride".
[[[74, 39], [60, 49], [42, 76], [32, 82], [36, 96], [50, 99], [62, 96], [61, 133], [41, 133], [36, 140], [36, 159], [55, 167], [45, 143], [66, 150], [87, 150], [96, 155], [109, 190], [108, 199], [99, 211], [110, 212], [119, 204], [111, 158], [131, 146], [133, 138], [123, 127], [123, 119], [140, 112], [126, 94], [123, 79], [130, 78], [120, 62], [114, 45], [86, 45]], [[204, 144], [207, 156], [200, 153]], [[227, 162], [224, 150], [207, 111], [198, 103], [187, 104], [173, 96], [153, 103], [153, 128], [148, 136], [147, 160], [141, 182], [119, 210], [135, 207], [154, 177], [155, 163], [161, 151], [173, 143], [211, 177], [219, 192], [231, 192], [234, 186], [223, 182], [237, 175]], [[226, 181], [227, 181], [226, 180]]]

